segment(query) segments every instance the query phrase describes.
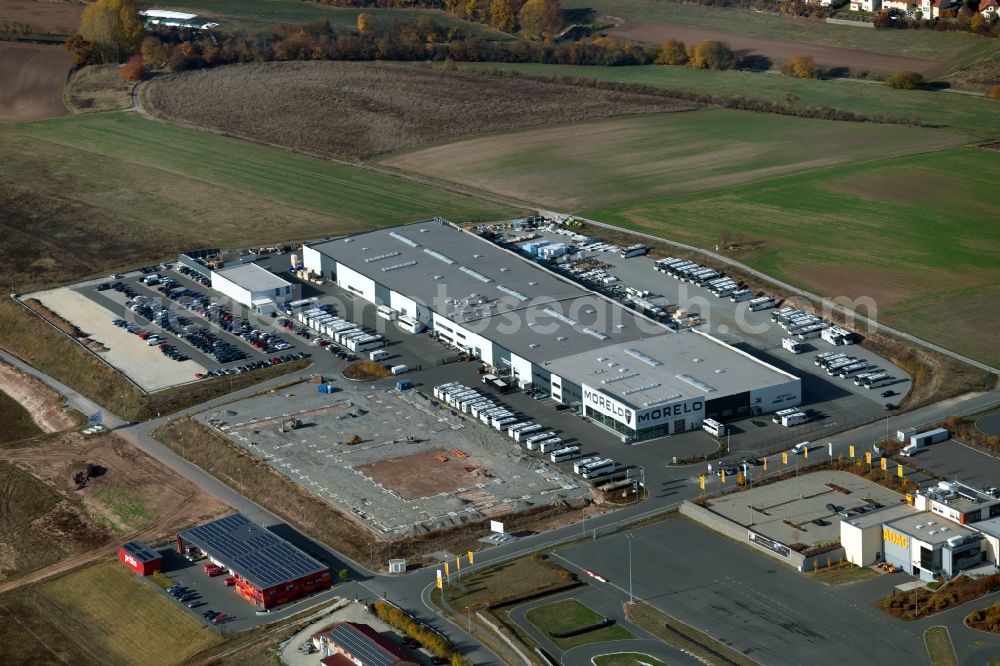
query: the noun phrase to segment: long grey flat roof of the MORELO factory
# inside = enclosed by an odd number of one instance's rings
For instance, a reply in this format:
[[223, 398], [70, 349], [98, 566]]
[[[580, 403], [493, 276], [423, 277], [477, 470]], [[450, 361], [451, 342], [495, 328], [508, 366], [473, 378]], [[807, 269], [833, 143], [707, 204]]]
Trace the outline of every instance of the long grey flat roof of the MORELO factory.
[[[658, 383], [658, 394], [714, 398], [797, 381], [711, 336], [674, 333], [515, 252], [443, 222], [380, 229], [311, 247], [576, 383], [594, 380], [598, 368], [607, 363], [598, 359], [611, 356], [641, 373], [631, 381], [632, 388]], [[648, 365], [628, 356], [624, 351], [628, 348], [646, 350], [664, 363]], [[696, 357], [705, 363], [693, 363]], [[723, 372], [715, 373], [718, 369]], [[704, 386], [717, 392], [707, 392]]]

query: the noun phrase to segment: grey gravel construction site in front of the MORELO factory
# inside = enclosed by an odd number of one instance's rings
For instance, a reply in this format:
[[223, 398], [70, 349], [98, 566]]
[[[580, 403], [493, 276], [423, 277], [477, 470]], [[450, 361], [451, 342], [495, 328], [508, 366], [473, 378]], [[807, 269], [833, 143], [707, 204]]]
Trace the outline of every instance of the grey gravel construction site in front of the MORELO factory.
[[588, 492], [415, 390], [303, 382], [197, 418], [389, 539]]

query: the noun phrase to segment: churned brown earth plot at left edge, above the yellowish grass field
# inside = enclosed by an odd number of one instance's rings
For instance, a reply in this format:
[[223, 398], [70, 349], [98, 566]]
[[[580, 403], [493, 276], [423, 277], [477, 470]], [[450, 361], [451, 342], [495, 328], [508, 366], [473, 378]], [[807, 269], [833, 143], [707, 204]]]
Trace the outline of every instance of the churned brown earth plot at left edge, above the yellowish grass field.
[[[78, 489], [88, 464], [105, 471]], [[79, 433], [0, 450], [0, 503], [0, 592], [228, 510], [119, 437]]]

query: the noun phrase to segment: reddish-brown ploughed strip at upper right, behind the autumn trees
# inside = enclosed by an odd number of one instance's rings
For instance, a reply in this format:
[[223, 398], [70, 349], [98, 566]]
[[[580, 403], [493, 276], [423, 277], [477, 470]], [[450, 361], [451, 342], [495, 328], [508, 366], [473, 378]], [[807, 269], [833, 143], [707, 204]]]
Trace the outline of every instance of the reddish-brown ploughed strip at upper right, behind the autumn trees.
[[755, 55], [770, 58], [775, 67], [799, 54], [811, 55], [818, 64], [828, 67], [850, 67], [852, 71], [892, 73], [901, 70], [920, 72], [930, 77], [939, 74], [952, 63], [923, 58], [858, 51], [824, 44], [809, 44], [782, 39], [766, 39], [754, 35], [744, 35], [725, 30], [709, 30], [685, 25], [665, 25], [646, 21], [627, 21], [618, 28], [608, 30], [608, 34], [638, 42], [660, 44], [674, 39], [685, 44], [697, 44], [708, 39], [725, 42], [741, 58]]

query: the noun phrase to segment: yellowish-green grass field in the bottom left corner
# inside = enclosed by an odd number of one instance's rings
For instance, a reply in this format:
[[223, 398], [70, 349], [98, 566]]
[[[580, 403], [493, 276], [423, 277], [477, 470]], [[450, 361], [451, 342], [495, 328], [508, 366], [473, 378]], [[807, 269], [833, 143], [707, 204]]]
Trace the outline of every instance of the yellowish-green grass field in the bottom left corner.
[[221, 640], [113, 561], [0, 595], [7, 663], [182, 664]]

